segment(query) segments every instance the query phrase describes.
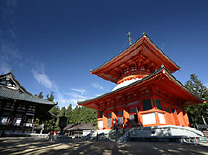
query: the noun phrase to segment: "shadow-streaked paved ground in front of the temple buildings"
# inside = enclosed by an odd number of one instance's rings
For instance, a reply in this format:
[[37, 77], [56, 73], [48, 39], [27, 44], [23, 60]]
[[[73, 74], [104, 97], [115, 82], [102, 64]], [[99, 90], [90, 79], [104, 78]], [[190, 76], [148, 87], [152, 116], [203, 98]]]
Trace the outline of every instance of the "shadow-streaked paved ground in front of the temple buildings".
[[8, 154], [208, 154], [208, 144], [190, 145], [156, 142], [104, 142], [70, 140], [66, 142], [47, 142], [31, 137], [0, 138], [0, 155]]

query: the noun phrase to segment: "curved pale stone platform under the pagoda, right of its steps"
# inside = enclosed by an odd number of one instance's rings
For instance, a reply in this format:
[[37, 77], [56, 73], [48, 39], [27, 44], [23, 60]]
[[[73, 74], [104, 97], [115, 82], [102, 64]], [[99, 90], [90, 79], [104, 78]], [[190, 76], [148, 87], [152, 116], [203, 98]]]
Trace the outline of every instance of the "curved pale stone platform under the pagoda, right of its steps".
[[124, 141], [155, 141], [179, 143], [207, 143], [208, 139], [199, 130], [180, 126], [154, 126], [145, 128], [131, 128], [122, 137]]

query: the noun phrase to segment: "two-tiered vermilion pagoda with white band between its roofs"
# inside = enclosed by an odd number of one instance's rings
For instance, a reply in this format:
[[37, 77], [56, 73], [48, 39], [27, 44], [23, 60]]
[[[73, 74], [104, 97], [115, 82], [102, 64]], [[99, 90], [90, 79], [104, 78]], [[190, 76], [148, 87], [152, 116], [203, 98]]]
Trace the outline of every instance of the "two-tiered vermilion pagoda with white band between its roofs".
[[142, 125], [189, 126], [185, 106], [203, 100], [175, 79], [180, 70], [145, 35], [128, 49], [91, 71], [117, 86], [112, 92], [78, 102], [98, 110], [98, 128]]

